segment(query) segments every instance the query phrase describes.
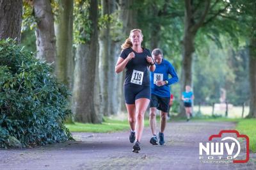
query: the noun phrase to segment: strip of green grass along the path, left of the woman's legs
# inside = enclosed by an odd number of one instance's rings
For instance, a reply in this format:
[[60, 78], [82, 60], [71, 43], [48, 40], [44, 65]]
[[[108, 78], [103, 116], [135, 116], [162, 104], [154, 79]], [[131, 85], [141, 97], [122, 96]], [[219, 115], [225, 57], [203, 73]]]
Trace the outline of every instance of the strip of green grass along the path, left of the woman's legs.
[[[145, 127], [148, 127], [148, 120], [145, 120]], [[127, 120], [112, 120], [109, 118], [104, 118], [104, 122], [101, 124], [92, 123], [74, 123], [65, 125], [70, 132], [95, 132], [95, 133], [107, 133], [116, 132], [120, 130], [129, 130], [130, 126]]]

